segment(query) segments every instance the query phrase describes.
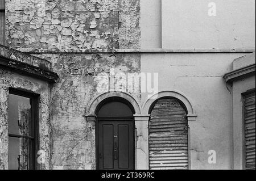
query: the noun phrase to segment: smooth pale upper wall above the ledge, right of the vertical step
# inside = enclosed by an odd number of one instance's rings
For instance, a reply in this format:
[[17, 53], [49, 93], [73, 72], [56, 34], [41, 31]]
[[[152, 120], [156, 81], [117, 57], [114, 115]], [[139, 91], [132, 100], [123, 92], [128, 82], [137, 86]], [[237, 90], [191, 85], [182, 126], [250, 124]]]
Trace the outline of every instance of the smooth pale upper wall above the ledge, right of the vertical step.
[[[208, 15], [210, 2], [216, 16]], [[162, 0], [162, 42], [175, 49], [255, 48], [255, 0]]]

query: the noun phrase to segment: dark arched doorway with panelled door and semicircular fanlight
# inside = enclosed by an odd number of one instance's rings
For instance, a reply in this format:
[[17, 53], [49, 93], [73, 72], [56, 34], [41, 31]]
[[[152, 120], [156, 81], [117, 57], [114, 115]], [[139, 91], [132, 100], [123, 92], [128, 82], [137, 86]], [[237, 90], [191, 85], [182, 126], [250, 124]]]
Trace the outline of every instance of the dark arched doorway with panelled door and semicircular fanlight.
[[130, 102], [103, 100], [96, 109], [97, 169], [134, 169], [134, 115]]

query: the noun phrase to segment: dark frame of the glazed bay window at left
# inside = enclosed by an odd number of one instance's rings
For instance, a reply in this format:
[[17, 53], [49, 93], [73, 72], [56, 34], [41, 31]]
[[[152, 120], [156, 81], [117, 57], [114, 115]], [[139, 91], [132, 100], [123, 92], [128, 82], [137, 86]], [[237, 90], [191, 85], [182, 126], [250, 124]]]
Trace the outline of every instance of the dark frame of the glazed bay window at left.
[[30, 150], [30, 163], [28, 170], [36, 170], [39, 166], [37, 163], [37, 152], [39, 150], [39, 94], [9, 88], [9, 94], [23, 96], [30, 99], [31, 103], [31, 136], [20, 136], [16, 134], [8, 134], [8, 137], [17, 138], [28, 138], [30, 139], [29, 150]]

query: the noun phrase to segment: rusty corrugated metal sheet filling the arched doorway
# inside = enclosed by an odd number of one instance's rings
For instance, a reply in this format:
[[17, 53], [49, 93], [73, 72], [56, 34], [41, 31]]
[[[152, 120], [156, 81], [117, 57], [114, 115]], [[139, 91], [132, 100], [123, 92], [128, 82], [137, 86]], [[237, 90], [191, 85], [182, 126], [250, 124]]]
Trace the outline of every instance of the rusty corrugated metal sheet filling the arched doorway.
[[149, 123], [150, 169], [188, 169], [186, 115], [177, 99], [156, 102]]

